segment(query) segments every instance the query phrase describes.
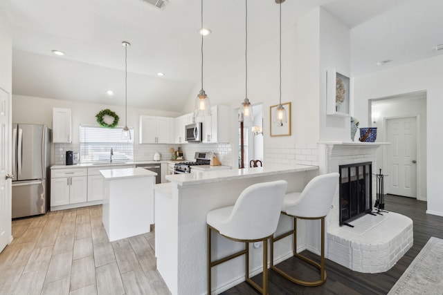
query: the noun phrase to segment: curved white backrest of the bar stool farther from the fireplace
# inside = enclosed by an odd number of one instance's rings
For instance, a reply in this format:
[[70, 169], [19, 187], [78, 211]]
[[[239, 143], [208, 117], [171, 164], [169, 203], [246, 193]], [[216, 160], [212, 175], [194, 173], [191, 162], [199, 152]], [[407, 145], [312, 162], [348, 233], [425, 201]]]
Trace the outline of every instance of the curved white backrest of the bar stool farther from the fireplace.
[[277, 229], [287, 182], [276, 180], [252, 184], [242, 191], [220, 234], [239, 240], [271, 236]]

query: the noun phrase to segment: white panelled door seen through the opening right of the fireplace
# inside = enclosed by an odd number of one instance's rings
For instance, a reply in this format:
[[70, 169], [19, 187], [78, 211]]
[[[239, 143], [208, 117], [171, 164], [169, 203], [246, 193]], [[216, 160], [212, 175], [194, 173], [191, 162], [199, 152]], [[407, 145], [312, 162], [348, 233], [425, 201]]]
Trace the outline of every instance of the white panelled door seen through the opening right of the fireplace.
[[388, 186], [386, 193], [417, 198], [417, 118], [386, 120]]

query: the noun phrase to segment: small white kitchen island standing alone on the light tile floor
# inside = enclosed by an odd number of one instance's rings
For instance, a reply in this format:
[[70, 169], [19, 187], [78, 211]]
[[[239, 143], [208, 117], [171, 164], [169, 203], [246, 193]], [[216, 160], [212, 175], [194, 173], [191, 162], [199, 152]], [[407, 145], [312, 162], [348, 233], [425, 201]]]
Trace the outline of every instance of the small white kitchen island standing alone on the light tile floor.
[[157, 173], [143, 168], [100, 170], [105, 178], [102, 222], [109, 241], [150, 232]]

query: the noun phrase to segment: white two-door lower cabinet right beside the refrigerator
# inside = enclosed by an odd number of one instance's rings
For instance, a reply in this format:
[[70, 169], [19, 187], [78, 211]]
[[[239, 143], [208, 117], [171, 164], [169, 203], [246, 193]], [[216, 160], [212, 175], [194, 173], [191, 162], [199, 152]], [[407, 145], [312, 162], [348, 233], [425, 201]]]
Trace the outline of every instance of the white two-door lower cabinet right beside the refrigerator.
[[87, 201], [87, 169], [51, 171], [51, 207]]

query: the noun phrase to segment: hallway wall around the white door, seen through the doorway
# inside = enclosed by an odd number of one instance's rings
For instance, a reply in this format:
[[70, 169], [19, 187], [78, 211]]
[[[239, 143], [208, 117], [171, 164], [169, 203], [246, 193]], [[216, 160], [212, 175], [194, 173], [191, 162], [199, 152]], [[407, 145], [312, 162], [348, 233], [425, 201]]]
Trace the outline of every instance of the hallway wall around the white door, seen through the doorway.
[[[426, 95], [424, 93], [423, 95]], [[377, 104], [372, 106], [372, 115], [377, 113], [379, 115], [377, 122], [372, 121], [372, 126], [377, 127], [377, 138], [380, 142], [389, 142], [386, 139], [385, 132], [385, 118], [396, 117], [417, 117], [417, 200], [426, 201], [426, 99], [407, 98], [407, 95], [401, 99], [395, 99], [384, 104]], [[390, 171], [387, 166], [383, 164], [383, 153], [387, 153], [389, 146], [383, 146], [383, 149], [377, 149], [377, 173], [382, 169], [383, 174], [389, 174]], [[389, 181], [389, 179], [385, 179]], [[386, 186], [385, 186], [386, 192]]]

